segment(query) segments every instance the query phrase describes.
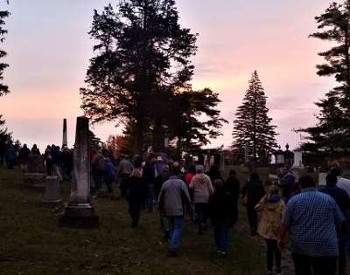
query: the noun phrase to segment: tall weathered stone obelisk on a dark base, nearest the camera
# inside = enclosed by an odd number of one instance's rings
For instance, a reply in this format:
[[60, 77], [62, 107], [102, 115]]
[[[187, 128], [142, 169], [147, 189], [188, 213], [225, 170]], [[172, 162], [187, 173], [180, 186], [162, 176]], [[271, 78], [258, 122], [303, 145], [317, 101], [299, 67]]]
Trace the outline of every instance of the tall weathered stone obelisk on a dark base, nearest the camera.
[[89, 157], [89, 120], [77, 118], [74, 169], [70, 199], [64, 215], [59, 219], [60, 226], [94, 227], [98, 224], [94, 207], [90, 200], [90, 157]]

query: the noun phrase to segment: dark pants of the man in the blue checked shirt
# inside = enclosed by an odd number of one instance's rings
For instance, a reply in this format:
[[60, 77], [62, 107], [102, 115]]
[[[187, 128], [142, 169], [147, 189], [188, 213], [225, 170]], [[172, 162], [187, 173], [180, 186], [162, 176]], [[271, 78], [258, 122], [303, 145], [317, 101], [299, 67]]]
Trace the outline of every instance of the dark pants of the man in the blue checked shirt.
[[337, 256], [310, 257], [293, 253], [295, 275], [335, 275]]

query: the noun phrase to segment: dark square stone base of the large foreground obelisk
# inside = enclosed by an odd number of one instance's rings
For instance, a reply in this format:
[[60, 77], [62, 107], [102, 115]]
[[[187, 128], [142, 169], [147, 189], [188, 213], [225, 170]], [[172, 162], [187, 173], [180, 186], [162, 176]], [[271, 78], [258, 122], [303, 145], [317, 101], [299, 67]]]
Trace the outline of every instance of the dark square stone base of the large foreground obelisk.
[[58, 225], [71, 228], [93, 228], [98, 225], [98, 216], [88, 203], [68, 205]]

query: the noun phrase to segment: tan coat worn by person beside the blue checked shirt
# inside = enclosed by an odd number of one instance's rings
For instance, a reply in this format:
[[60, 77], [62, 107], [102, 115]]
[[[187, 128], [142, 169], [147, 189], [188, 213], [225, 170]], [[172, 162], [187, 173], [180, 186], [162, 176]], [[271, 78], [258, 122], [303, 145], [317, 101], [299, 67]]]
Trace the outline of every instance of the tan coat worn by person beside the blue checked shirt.
[[264, 196], [255, 209], [258, 213], [258, 233], [265, 239], [277, 240], [278, 230], [281, 225], [281, 218], [285, 208], [282, 199], [277, 202], [269, 202]]

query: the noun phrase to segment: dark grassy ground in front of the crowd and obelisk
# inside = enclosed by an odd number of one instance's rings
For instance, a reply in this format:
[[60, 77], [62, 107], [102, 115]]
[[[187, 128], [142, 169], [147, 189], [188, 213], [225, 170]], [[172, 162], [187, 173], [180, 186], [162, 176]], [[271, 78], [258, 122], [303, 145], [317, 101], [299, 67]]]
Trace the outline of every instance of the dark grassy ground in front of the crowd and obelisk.
[[[264, 269], [264, 248], [241, 223], [231, 231], [230, 253], [217, 258], [211, 230], [196, 234], [187, 220], [180, 256], [167, 256], [158, 214], [142, 212], [130, 228], [124, 200], [96, 197], [94, 229], [58, 227], [58, 216], [41, 203], [42, 189], [21, 184], [18, 170], [0, 168], [0, 274], [251, 274]], [[62, 183], [63, 198], [69, 183]]]

